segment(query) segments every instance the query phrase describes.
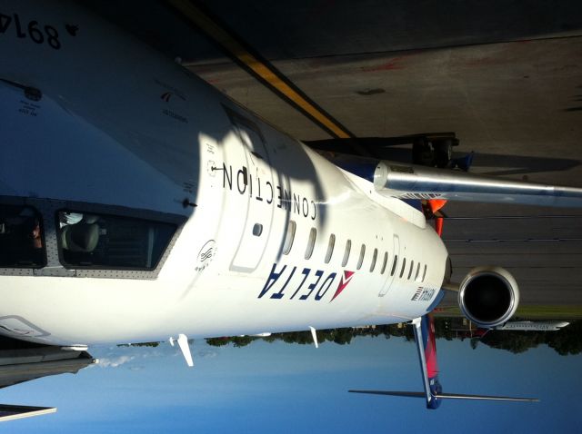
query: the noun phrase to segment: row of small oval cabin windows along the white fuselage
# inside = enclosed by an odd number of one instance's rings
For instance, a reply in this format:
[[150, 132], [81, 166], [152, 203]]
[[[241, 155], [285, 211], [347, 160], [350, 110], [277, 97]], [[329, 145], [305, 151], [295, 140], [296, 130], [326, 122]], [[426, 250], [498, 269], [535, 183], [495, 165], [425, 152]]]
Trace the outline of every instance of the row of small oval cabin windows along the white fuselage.
[[[285, 242], [283, 244], [283, 254], [289, 254], [291, 252], [291, 248], [293, 247], [293, 241], [295, 239], [295, 232], [296, 232], [296, 222], [289, 221], [287, 225], [287, 232], [285, 237]], [[311, 228], [309, 231], [309, 239], [307, 240], [306, 246], [306, 254], [305, 259], [311, 259], [313, 255], [313, 251], [316, 245], [316, 238], [317, 238], [317, 230], [316, 228]], [[336, 246], [336, 235], [331, 234], [329, 235], [329, 242], [327, 244], [326, 250], [326, 257], [325, 262], [329, 263], [331, 261], [331, 257], [334, 253], [334, 247]], [[342, 267], [346, 267], [347, 261], [349, 261], [349, 255], [352, 250], [352, 241], [346, 240], [346, 248], [344, 250], [344, 257], [342, 259]], [[364, 264], [364, 258], [366, 257], [366, 244], [362, 244], [360, 247], [360, 254], [357, 259], [356, 269], [360, 270], [362, 265]], [[376, 269], [376, 261], [378, 259], [378, 250], [375, 248], [374, 252], [372, 253], [372, 262], [370, 263], [370, 272], [373, 272]], [[382, 266], [380, 268], [380, 274], [384, 274], [386, 272], [386, 267], [388, 265], [388, 252], [384, 252], [384, 256], [382, 259]], [[394, 276], [396, 273], [396, 267], [398, 265], [398, 255], [394, 256], [394, 260], [392, 261], [392, 266], [390, 268], [390, 276]], [[422, 270], [422, 274], [421, 274]], [[420, 262], [416, 262], [415, 268], [415, 261], [410, 261], [408, 267], [406, 268], [406, 258], [402, 260], [402, 265], [400, 268], [400, 272], [398, 274], [399, 279], [406, 279], [414, 281], [425, 281], [426, 279], [426, 264], [421, 267]]]

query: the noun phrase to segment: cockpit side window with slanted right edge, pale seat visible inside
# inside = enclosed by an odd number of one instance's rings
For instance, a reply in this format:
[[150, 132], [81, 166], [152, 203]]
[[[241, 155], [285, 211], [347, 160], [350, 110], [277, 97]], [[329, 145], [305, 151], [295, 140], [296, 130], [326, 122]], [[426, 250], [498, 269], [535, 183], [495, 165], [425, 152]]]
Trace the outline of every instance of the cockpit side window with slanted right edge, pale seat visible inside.
[[102, 270], [154, 270], [176, 225], [88, 212], [58, 212], [57, 234], [65, 266]]

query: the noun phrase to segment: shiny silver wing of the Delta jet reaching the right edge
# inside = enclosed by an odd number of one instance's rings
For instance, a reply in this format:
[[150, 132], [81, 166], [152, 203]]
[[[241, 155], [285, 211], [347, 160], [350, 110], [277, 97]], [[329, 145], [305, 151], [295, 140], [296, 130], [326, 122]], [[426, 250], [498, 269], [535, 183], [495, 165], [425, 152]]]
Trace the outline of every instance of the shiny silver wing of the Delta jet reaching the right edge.
[[376, 192], [400, 199], [446, 199], [553, 207], [582, 207], [582, 188], [500, 179], [473, 173], [382, 161]]

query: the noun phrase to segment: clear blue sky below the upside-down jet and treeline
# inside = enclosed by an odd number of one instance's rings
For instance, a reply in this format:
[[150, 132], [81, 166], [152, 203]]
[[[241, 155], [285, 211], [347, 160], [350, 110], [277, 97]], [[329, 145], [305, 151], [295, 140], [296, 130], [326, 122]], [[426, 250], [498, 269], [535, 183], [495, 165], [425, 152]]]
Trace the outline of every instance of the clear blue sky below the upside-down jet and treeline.
[[98, 366], [1, 390], [3, 403], [50, 405], [55, 415], [6, 422], [10, 432], [574, 432], [582, 356], [541, 346], [515, 355], [437, 340], [444, 391], [523, 395], [541, 403], [444, 402], [349, 394], [420, 390], [412, 342], [360, 337], [351, 345], [253, 342], [179, 350], [95, 348]]

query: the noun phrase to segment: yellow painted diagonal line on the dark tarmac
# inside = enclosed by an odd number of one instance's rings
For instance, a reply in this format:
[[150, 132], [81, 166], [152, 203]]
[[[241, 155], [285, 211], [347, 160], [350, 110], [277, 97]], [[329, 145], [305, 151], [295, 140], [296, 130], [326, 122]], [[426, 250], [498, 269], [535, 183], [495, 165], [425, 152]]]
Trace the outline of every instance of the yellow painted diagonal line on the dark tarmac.
[[252, 71], [263, 78], [268, 84], [271, 84], [278, 92], [284, 94], [288, 99], [293, 101], [306, 113], [309, 113], [317, 122], [326, 126], [326, 128], [335, 133], [341, 139], [351, 137], [344, 128], [335, 123], [332, 119], [321, 113], [313, 104], [309, 103], [303, 96], [297, 92], [277, 74], [269, 68], [268, 65], [258, 60], [253, 54], [250, 54], [246, 48], [239, 44], [235, 38], [229, 35], [225, 29], [216, 25], [203, 11], [196, 5], [191, 4], [188, 0], [166, 0], [167, 3], [174, 6], [180, 11], [192, 24], [196, 25], [207, 35], [211, 36], [218, 44], [221, 44], [229, 53], [233, 54], [240, 62], [246, 64]]

